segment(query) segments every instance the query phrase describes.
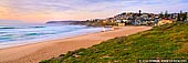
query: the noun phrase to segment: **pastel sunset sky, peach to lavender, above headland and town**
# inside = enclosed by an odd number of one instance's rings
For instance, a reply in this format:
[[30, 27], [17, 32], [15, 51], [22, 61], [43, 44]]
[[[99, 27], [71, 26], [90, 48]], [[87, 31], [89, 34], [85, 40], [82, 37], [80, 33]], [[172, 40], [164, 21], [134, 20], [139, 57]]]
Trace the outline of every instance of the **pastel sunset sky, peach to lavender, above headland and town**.
[[122, 12], [188, 11], [188, 0], [0, 0], [0, 20], [46, 22], [108, 18]]

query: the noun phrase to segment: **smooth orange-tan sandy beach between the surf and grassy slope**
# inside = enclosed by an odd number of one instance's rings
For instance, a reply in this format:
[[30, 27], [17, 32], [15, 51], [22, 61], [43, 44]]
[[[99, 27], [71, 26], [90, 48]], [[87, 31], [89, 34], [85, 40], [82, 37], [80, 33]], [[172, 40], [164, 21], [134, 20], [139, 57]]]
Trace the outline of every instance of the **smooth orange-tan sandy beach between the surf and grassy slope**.
[[56, 57], [67, 51], [90, 48], [108, 39], [129, 35], [149, 29], [152, 29], [152, 27], [119, 27], [119, 29], [114, 31], [90, 33], [67, 39], [0, 49], [0, 63], [38, 63], [41, 60]]

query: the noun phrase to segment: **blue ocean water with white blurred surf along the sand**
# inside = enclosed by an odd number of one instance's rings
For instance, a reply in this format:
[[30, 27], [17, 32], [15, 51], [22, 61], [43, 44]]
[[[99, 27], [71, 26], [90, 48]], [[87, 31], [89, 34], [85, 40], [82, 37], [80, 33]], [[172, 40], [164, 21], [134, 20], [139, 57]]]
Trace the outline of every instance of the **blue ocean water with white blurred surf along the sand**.
[[0, 49], [101, 32], [103, 28], [61, 24], [0, 25]]

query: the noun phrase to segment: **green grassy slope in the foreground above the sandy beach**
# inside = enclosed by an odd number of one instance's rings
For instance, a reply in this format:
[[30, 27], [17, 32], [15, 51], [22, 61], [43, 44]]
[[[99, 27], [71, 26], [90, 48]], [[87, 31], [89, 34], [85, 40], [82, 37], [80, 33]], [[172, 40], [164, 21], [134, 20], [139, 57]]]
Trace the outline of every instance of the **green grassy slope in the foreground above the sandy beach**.
[[115, 38], [88, 49], [70, 51], [40, 63], [137, 63], [140, 59], [186, 59], [188, 23], [154, 27], [129, 36]]

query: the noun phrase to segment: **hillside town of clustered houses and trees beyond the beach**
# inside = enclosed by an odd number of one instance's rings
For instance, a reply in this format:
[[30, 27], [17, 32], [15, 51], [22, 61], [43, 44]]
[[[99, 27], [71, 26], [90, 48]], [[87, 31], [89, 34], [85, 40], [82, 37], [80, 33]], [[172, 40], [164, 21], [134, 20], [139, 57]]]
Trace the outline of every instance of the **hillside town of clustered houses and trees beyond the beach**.
[[161, 25], [166, 23], [173, 23], [177, 21], [188, 21], [188, 13], [180, 11], [179, 13], [168, 13], [160, 12], [155, 13], [142, 13], [142, 10], [138, 12], [124, 12], [112, 18], [106, 19], [91, 19], [84, 21], [83, 24], [87, 25]]

